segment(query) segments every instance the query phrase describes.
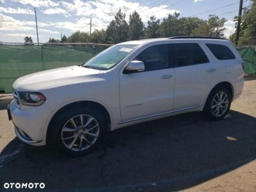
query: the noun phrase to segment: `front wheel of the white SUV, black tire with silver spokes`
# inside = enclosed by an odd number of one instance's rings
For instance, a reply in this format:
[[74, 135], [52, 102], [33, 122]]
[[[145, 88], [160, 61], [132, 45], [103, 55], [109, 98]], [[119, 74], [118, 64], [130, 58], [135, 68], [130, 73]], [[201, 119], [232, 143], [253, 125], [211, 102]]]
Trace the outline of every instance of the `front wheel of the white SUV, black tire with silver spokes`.
[[53, 144], [65, 154], [82, 156], [100, 143], [107, 130], [102, 113], [92, 107], [69, 107], [56, 117]]

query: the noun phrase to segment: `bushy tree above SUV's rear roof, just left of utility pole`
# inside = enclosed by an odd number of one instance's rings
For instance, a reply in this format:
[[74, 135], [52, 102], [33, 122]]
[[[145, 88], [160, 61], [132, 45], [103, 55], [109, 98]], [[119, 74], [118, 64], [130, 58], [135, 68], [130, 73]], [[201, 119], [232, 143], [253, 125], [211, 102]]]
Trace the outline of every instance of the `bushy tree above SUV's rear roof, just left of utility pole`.
[[223, 37], [224, 24], [227, 20], [225, 18], [218, 18], [215, 15], [209, 15], [208, 21], [203, 21], [198, 28], [192, 31], [194, 36], [210, 36], [210, 37]]

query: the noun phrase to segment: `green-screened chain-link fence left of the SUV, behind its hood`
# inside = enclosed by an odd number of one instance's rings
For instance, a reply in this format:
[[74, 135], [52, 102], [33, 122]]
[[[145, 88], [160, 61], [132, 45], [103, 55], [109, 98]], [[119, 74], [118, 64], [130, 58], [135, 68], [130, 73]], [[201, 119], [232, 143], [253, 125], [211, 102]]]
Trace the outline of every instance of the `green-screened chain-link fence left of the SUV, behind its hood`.
[[23, 75], [41, 70], [78, 65], [110, 47], [97, 43], [0, 44], [0, 93], [12, 92], [11, 85]]

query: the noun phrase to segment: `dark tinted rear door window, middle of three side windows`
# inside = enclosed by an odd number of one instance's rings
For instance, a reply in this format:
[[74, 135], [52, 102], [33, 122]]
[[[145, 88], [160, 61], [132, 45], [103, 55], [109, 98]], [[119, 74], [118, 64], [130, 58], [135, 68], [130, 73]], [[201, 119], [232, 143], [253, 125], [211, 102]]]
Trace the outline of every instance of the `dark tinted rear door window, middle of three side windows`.
[[176, 67], [208, 63], [206, 53], [197, 43], [174, 43], [169, 45], [171, 64]]

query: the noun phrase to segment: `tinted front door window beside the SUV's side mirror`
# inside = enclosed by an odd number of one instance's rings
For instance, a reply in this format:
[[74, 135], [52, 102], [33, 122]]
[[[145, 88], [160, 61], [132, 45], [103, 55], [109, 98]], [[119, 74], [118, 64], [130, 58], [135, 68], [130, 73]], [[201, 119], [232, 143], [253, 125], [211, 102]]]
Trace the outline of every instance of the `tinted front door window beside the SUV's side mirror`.
[[158, 45], [146, 48], [134, 60], [142, 60], [146, 71], [169, 68], [168, 46]]

